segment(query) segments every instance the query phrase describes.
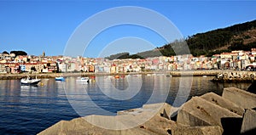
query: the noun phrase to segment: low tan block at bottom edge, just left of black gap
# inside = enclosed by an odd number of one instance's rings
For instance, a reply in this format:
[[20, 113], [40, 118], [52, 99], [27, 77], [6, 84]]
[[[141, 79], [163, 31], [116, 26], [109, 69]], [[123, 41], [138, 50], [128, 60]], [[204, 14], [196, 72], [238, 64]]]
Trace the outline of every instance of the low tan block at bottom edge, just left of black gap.
[[222, 135], [223, 129], [218, 126], [207, 127], [177, 127], [172, 135]]

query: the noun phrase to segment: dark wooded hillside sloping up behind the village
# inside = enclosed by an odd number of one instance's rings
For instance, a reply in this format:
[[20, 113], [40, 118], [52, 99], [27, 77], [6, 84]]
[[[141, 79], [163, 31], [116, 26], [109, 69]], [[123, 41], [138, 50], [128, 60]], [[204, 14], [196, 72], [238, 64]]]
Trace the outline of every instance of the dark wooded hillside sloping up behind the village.
[[[223, 29], [198, 33], [187, 37], [184, 41], [175, 41], [160, 48], [154, 48], [146, 52], [130, 55], [122, 53], [112, 55], [114, 59], [135, 59], [155, 56], [172, 56], [183, 52], [183, 45], [188, 44], [190, 53], [194, 56], [212, 56], [215, 53], [230, 52], [232, 50], [251, 50], [256, 48], [256, 20], [242, 24], [231, 25]], [[177, 51], [174, 52], [173, 48]], [[110, 58], [110, 57], [108, 57]]]

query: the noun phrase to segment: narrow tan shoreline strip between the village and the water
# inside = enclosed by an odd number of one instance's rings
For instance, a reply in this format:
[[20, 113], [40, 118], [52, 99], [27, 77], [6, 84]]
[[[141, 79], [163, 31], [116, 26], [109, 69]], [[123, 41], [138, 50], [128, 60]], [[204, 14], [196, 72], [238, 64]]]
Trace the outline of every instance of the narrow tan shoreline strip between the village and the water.
[[[152, 75], [152, 74], [166, 74], [173, 77], [176, 76], [214, 76], [212, 78], [213, 82], [244, 82], [248, 81], [247, 77], [241, 78], [217, 78], [218, 75], [227, 75], [230, 73], [241, 74], [241, 75], [248, 75], [253, 74], [255, 75], [255, 71], [247, 71], [247, 70], [174, 70], [174, 71], [144, 71], [144, 72], [127, 72], [127, 73], [95, 73], [95, 72], [84, 72], [84, 73], [21, 73], [21, 74], [9, 74], [9, 73], [0, 73], [0, 80], [11, 80], [11, 79], [21, 79], [26, 76], [31, 76], [32, 78], [55, 78], [56, 76], [64, 76], [64, 77], [76, 77], [76, 76], [115, 76], [115, 75]], [[230, 77], [230, 76], [229, 76]], [[252, 82], [254, 79], [249, 80]]]

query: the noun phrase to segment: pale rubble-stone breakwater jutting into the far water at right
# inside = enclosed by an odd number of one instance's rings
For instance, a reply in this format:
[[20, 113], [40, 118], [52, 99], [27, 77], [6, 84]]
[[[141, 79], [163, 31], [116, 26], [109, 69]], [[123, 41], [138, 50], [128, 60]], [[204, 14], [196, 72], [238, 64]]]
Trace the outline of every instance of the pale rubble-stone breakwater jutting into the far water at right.
[[219, 72], [213, 82], [252, 82], [256, 80], [255, 71], [224, 71]]

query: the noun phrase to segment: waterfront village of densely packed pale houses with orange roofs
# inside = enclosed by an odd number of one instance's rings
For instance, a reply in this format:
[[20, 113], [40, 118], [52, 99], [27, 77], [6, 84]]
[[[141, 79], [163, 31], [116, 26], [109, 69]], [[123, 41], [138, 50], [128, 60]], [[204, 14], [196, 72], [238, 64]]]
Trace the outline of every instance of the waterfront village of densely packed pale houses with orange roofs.
[[160, 70], [255, 70], [256, 48], [232, 51], [212, 57], [191, 54], [160, 56], [147, 59], [77, 58], [67, 56], [18, 55], [0, 53], [0, 73], [22, 72], [95, 72], [127, 73]]

